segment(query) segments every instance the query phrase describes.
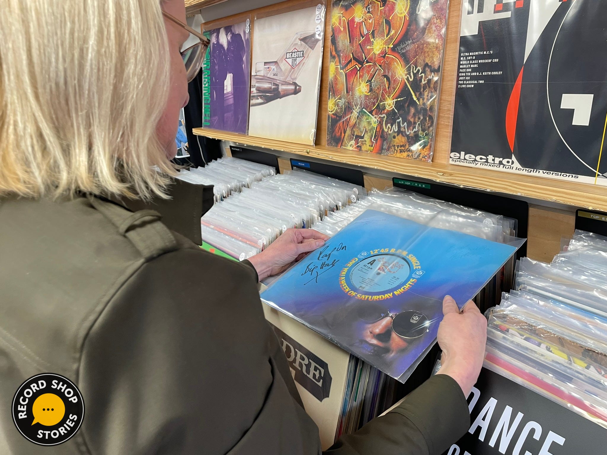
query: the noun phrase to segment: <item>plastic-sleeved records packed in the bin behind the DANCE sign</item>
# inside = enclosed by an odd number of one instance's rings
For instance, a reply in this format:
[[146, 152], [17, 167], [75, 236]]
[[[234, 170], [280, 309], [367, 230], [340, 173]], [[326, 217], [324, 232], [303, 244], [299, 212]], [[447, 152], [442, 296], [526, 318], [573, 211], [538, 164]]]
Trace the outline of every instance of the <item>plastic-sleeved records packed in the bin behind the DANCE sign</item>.
[[486, 367], [607, 428], [607, 238], [521, 259], [515, 289], [489, 311]]

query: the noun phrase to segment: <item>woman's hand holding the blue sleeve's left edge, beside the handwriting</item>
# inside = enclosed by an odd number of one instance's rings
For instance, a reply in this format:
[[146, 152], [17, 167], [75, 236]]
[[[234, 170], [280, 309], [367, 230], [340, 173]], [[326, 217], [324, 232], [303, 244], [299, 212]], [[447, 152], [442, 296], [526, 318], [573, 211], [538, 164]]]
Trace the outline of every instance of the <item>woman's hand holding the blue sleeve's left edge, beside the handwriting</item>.
[[285, 271], [310, 251], [323, 246], [328, 239], [328, 235], [314, 229], [287, 229], [268, 248], [249, 258], [249, 262], [261, 281]]

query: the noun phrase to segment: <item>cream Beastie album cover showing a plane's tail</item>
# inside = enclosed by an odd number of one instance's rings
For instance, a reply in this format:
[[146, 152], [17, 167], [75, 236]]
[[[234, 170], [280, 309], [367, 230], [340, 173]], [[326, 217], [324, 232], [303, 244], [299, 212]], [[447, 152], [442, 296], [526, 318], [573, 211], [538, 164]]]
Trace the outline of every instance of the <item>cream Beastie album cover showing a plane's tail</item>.
[[249, 135], [314, 144], [325, 6], [254, 21]]

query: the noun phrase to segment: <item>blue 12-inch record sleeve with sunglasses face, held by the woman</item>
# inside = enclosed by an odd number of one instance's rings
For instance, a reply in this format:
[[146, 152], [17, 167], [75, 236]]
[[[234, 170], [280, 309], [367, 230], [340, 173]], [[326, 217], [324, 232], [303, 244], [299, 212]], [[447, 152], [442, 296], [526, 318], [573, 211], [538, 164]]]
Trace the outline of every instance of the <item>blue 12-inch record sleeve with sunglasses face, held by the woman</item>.
[[436, 340], [443, 297], [463, 306], [516, 249], [368, 209], [261, 297], [404, 382]]

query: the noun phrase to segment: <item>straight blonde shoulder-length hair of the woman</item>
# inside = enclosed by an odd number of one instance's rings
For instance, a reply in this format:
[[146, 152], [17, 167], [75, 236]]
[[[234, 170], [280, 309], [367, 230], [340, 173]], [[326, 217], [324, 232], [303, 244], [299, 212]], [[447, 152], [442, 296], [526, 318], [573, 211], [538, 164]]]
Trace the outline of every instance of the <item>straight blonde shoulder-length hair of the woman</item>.
[[4, 0], [0, 43], [0, 195], [163, 196], [159, 0]]

